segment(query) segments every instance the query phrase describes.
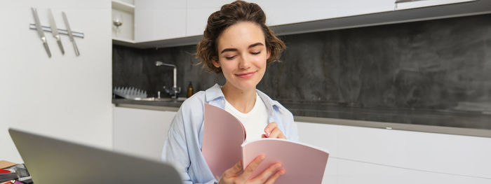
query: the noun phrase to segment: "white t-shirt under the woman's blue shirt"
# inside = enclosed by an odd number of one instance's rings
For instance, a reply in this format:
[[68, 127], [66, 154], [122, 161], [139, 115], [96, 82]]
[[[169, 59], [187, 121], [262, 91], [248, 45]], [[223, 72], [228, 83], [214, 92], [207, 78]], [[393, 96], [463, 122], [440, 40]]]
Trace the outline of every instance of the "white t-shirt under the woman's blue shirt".
[[248, 113], [241, 113], [234, 106], [225, 100], [225, 111], [234, 115], [242, 122], [245, 128], [245, 142], [261, 139], [264, 128], [268, 125], [268, 113], [266, 105], [256, 93], [256, 102], [252, 110]]

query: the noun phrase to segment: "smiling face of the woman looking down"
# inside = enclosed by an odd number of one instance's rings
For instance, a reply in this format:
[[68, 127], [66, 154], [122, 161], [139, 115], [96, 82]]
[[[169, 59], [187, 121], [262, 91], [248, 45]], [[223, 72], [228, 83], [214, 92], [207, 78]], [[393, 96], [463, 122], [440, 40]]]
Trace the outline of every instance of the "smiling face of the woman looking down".
[[266, 71], [270, 53], [266, 49], [264, 33], [258, 24], [238, 22], [225, 29], [217, 38], [218, 62], [225, 86], [237, 90], [255, 89]]

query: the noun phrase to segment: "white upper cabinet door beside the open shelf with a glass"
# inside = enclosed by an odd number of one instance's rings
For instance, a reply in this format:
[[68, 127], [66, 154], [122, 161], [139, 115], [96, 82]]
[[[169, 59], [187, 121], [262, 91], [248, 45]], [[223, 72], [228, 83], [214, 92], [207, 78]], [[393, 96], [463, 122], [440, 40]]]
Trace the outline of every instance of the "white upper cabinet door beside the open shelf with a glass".
[[135, 0], [135, 41], [186, 36], [186, 1]]

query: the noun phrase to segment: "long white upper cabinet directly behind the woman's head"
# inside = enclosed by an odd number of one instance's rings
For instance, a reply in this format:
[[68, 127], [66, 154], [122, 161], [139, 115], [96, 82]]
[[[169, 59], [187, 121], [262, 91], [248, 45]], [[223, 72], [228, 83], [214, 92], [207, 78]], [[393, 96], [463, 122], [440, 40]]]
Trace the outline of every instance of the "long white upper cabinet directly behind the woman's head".
[[[211, 13], [220, 10], [230, 0], [199, 1], [187, 0], [187, 34], [196, 36], [203, 34], [206, 21]], [[276, 26], [324, 20], [335, 17], [363, 15], [394, 10], [394, 0], [347, 0], [347, 1], [285, 1], [285, 0], [253, 0], [264, 10], [267, 25]]]

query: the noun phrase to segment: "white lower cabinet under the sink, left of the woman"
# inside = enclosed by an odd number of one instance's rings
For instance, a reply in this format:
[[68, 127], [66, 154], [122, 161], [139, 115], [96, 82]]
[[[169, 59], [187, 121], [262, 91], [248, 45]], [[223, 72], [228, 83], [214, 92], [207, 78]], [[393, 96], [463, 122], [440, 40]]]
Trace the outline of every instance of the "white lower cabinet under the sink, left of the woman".
[[114, 107], [115, 151], [160, 160], [163, 142], [176, 112]]

